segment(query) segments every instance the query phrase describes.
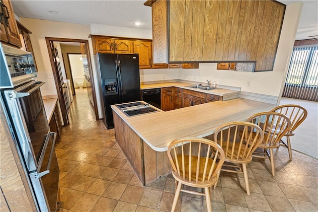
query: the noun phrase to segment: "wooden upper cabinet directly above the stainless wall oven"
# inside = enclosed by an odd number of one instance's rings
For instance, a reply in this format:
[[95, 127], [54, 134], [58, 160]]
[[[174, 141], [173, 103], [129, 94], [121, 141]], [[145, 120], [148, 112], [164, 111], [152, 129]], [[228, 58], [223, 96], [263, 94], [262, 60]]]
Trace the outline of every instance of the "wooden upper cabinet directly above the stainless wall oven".
[[[3, 4], [3, 5], [2, 5]], [[10, 0], [1, 0], [1, 42], [22, 47]]]

